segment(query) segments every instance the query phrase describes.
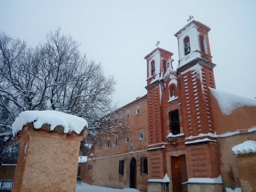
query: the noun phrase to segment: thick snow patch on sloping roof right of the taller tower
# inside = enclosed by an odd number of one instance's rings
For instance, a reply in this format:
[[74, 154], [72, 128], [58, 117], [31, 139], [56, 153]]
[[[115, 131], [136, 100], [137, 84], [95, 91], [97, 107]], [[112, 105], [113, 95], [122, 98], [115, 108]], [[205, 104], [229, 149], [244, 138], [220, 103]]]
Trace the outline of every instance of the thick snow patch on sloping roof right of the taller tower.
[[219, 108], [225, 115], [230, 115], [234, 109], [243, 106], [254, 106], [256, 107], [256, 99], [242, 97], [239, 95], [234, 95], [227, 93], [225, 91], [220, 91], [217, 89], [210, 88], [211, 94], [215, 97], [219, 104]]

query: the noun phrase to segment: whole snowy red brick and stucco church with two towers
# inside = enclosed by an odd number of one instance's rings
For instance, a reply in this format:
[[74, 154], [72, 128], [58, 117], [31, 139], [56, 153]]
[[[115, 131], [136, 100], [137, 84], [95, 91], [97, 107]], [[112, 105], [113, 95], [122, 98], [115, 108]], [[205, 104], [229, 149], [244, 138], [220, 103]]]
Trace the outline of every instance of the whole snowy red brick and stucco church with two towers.
[[215, 89], [209, 31], [193, 20], [175, 33], [176, 70], [170, 51], [157, 46], [145, 56], [147, 94], [119, 109], [131, 129], [93, 145], [78, 164], [83, 182], [143, 192], [256, 191], [256, 99]]

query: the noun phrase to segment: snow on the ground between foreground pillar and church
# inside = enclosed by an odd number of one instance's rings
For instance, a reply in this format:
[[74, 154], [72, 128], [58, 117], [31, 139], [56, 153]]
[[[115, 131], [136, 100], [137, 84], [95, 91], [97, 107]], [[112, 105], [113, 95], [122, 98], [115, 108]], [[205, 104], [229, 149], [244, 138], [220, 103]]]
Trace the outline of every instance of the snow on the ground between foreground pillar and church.
[[89, 185], [81, 182], [81, 186], [77, 185], [75, 192], [139, 192], [137, 189], [114, 189], [110, 187], [100, 187], [96, 185]]

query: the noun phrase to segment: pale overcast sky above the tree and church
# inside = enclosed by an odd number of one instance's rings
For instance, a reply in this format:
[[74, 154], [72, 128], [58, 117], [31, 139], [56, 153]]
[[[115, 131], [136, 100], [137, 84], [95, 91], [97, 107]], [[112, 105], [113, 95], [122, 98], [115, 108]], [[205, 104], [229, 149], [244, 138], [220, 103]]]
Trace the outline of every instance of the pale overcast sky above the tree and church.
[[117, 80], [119, 106], [146, 94], [145, 55], [159, 47], [174, 53], [174, 36], [189, 15], [211, 28], [216, 88], [256, 97], [256, 1], [0, 1], [0, 30], [30, 46], [61, 27], [81, 43], [88, 59]]

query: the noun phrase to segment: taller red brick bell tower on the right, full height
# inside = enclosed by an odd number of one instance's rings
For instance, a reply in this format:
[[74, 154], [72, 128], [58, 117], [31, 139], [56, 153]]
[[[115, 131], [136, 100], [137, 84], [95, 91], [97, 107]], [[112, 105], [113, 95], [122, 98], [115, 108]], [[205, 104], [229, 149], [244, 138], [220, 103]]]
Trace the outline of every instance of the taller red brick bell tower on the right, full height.
[[[181, 108], [186, 137], [188, 178], [215, 178], [220, 175], [217, 139], [209, 87], [215, 88], [208, 32], [210, 28], [191, 21], [178, 38]], [[188, 183], [190, 185], [190, 183]], [[192, 185], [192, 184], [191, 184]]]

